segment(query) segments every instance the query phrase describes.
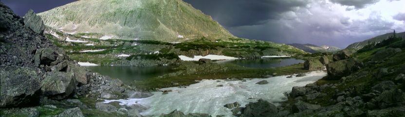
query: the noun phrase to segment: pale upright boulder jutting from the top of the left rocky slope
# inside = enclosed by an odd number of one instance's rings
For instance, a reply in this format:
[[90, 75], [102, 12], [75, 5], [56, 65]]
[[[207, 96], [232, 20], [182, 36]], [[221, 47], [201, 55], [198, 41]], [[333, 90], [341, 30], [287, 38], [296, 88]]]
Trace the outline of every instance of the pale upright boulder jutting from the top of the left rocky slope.
[[32, 31], [41, 34], [44, 32], [45, 25], [41, 17], [37, 16], [32, 9], [30, 9], [24, 16], [24, 24]]

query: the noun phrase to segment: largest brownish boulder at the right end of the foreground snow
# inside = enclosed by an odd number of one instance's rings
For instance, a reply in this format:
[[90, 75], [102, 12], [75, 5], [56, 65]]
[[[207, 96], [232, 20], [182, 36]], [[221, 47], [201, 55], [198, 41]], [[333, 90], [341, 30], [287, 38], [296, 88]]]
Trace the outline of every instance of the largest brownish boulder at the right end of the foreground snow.
[[326, 65], [328, 75], [330, 75], [328, 79], [340, 79], [346, 77], [363, 66], [363, 62], [356, 58], [331, 62]]

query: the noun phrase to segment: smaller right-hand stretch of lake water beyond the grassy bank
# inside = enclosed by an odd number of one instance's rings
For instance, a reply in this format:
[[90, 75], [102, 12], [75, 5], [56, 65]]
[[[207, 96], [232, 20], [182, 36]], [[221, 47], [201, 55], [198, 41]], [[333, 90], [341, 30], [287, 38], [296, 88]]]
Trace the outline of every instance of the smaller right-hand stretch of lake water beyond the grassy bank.
[[244, 67], [251, 68], [271, 68], [271, 67], [282, 67], [292, 64], [297, 64], [300, 62], [305, 62], [302, 59], [236, 59], [236, 60], [223, 60], [217, 61], [218, 63], [232, 63]]

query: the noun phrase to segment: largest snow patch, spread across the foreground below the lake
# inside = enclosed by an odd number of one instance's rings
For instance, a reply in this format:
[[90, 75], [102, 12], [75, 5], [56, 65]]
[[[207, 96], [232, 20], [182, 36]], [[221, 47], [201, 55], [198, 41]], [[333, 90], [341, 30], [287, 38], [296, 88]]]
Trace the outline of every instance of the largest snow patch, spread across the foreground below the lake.
[[[275, 105], [287, 100], [284, 92], [290, 93], [294, 86], [305, 86], [327, 75], [325, 71], [313, 71], [306, 73], [304, 77], [286, 78], [278, 76], [271, 78], [254, 78], [242, 81], [202, 80], [186, 88], [170, 87], [160, 91], [171, 90], [168, 94], [152, 92], [154, 95], [148, 98], [128, 98], [119, 100], [105, 100], [104, 103], [119, 101], [120, 105], [141, 104], [150, 107], [140, 113], [143, 116], [159, 116], [162, 113], [170, 113], [174, 110], [188, 113], [206, 113], [215, 117], [225, 115], [233, 117], [231, 109], [224, 107], [227, 103], [238, 101], [241, 107], [257, 99], [267, 100]], [[261, 80], [267, 80], [268, 84], [256, 84]], [[220, 82], [217, 82], [220, 81]], [[217, 85], [223, 85], [217, 87]], [[251, 99], [249, 99], [251, 98]]]

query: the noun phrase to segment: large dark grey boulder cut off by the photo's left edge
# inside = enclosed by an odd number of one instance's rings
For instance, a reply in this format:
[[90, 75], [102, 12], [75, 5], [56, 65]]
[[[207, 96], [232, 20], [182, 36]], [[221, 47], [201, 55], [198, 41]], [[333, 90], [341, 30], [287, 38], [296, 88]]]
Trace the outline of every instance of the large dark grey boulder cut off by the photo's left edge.
[[0, 107], [29, 106], [39, 100], [39, 76], [27, 67], [1, 67]]

